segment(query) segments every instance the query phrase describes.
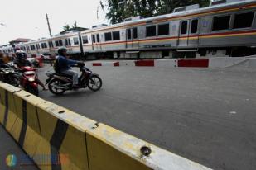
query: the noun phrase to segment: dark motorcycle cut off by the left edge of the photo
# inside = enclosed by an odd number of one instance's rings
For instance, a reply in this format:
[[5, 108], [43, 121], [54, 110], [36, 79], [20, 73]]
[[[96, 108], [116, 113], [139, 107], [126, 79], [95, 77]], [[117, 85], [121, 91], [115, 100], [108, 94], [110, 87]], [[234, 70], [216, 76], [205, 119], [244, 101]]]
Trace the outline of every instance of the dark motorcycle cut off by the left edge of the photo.
[[0, 80], [12, 86], [19, 87], [20, 76], [9, 64], [4, 64], [0, 68]]

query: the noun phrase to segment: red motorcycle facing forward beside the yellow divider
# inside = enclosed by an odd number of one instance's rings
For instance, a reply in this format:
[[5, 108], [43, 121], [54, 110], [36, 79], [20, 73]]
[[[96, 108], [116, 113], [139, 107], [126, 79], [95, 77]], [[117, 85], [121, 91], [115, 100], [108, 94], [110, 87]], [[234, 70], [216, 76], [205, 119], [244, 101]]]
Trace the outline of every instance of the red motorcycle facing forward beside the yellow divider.
[[37, 83], [37, 75], [36, 75], [36, 68], [33, 67], [22, 67], [20, 69], [22, 73], [22, 78], [20, 81], [20, 85], [23, 89], [31, 94], [38, 96], [38, 83]]

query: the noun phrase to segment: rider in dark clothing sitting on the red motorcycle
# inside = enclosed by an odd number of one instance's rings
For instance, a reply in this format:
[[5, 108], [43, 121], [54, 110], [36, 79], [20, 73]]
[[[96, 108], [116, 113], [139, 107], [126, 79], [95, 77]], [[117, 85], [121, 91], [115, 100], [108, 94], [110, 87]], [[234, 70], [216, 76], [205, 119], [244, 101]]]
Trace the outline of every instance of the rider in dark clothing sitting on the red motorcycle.
[[[25, 51], [17, 50], [16, 53], [16, 59], [14, 60], [13, 64], [17, 65], [17, 68], [22, 67], [33, 67], [31, 62], [27, 60], [27, 54]], [[40, 79], [36, 76], [36, 83], [38, 83], [43, 90], [47, 90], [44, 83], [41, 83]]]

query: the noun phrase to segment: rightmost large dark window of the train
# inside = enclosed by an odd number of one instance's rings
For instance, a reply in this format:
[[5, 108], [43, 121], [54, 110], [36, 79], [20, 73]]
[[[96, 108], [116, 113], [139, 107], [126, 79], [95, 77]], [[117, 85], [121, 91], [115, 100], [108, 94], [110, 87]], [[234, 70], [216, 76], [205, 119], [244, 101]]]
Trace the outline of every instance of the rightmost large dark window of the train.
[[249, 28], [254, 20], [254, 12], [235, 14], [233, 29]]

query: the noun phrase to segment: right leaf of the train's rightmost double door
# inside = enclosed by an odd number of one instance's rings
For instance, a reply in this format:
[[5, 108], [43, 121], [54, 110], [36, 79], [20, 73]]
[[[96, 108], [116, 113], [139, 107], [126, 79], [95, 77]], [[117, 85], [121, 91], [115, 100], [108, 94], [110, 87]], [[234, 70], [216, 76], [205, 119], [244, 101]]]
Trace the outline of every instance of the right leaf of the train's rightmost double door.
[[197, 48], [199, 43], [199, 20], [190, 20], [190, 31], [188, 35], [188, 46], [191, 48]]

